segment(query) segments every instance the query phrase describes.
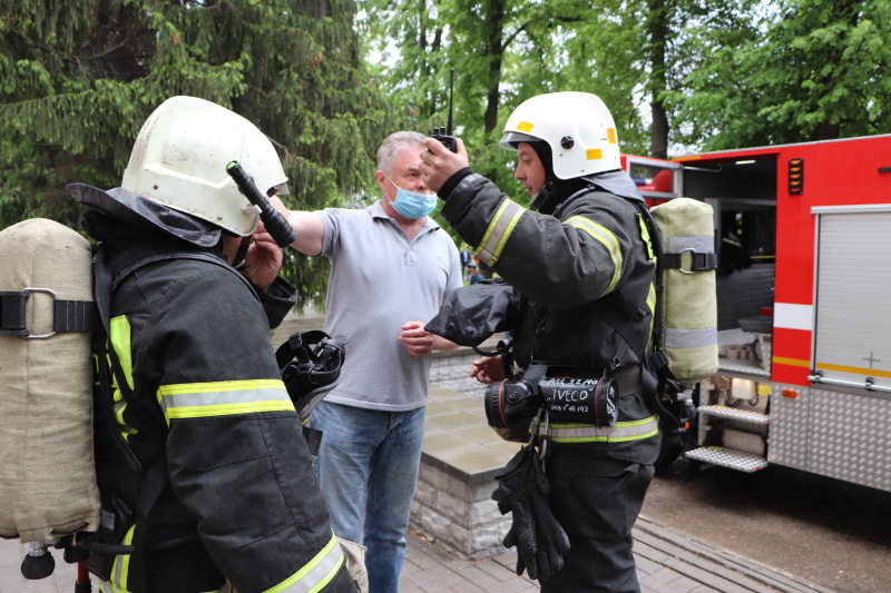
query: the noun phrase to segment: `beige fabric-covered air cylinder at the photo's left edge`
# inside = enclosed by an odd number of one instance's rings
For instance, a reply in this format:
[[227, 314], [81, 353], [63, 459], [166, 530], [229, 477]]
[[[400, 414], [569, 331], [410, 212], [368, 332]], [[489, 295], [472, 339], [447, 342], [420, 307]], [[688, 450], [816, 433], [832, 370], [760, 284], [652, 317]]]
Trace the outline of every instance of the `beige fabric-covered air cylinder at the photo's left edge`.
[[0, 233], [0, 253], [2, 325], [23, 314], [19, 330], [0, 330], [0, 536], [45, 548], [99, 527], [92, 335], [69, 327], [94, 299], [90, 245], [31, 218]]

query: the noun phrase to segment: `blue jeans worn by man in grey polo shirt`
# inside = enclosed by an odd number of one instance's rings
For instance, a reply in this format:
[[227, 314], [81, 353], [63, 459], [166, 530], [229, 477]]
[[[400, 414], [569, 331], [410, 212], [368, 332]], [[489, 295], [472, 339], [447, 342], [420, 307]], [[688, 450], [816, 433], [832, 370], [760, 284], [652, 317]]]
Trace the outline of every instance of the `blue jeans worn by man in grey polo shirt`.
[[334, 533], [353, 542], [361, 533], [371, 593], [396, 593], [424, 408], [382, 412], [322, 402], [312, 426], [324, 433], [316, 467]]

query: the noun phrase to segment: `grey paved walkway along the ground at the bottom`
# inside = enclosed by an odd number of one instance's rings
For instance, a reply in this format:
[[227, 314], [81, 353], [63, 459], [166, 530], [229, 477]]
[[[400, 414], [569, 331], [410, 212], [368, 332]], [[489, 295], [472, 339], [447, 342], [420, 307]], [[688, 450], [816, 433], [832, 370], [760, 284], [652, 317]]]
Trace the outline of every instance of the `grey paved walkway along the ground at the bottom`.
[[[533, 581], [515, 574], [516, 553], [468, 561], [446, 553], [415, 534], [409, 534], [408, 542], [399, 593], [538, 591]], [[28, 547], [17, 540], [0, 541], [0, 593], [74, 593], [77, 573], [74, 566], [62, 562], [60, 551], [53, 550], [57, 564], [50, 577], [26, 581], [20, 566], [27, 551]], [[634, 552], [643, 593], [832, 593], [644, 516], [635, 526]]]

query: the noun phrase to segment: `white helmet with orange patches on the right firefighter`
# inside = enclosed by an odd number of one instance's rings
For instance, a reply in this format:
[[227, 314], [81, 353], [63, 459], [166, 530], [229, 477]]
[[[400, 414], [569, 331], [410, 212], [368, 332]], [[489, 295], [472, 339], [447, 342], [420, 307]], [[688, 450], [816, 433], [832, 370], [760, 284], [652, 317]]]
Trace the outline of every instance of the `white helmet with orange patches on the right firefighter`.
[[596, 95], [551, 92], [520, 103], [505, 125], [500, 146], [516, 150], [517, 142], [537, 140], [550, 146], [559, 179], [620, 168], [616, 125]]

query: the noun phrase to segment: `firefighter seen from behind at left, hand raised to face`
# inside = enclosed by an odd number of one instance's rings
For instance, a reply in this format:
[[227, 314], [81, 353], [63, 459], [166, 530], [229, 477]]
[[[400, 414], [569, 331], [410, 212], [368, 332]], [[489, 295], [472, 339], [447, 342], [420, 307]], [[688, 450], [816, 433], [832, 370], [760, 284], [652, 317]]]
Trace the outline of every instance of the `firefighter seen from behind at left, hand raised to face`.
[[261, 191], [286, 189], [256, 127], [175, 97], [143, 126], [120, 188], [70, 187], [91, 207], [97, 278], [115, 286], [121, 439], [97, 433], [100, 535], [134, 551], [94, 550], [108, 593], [355, 591], [270, 340], [295, 290], [231, 160]]

